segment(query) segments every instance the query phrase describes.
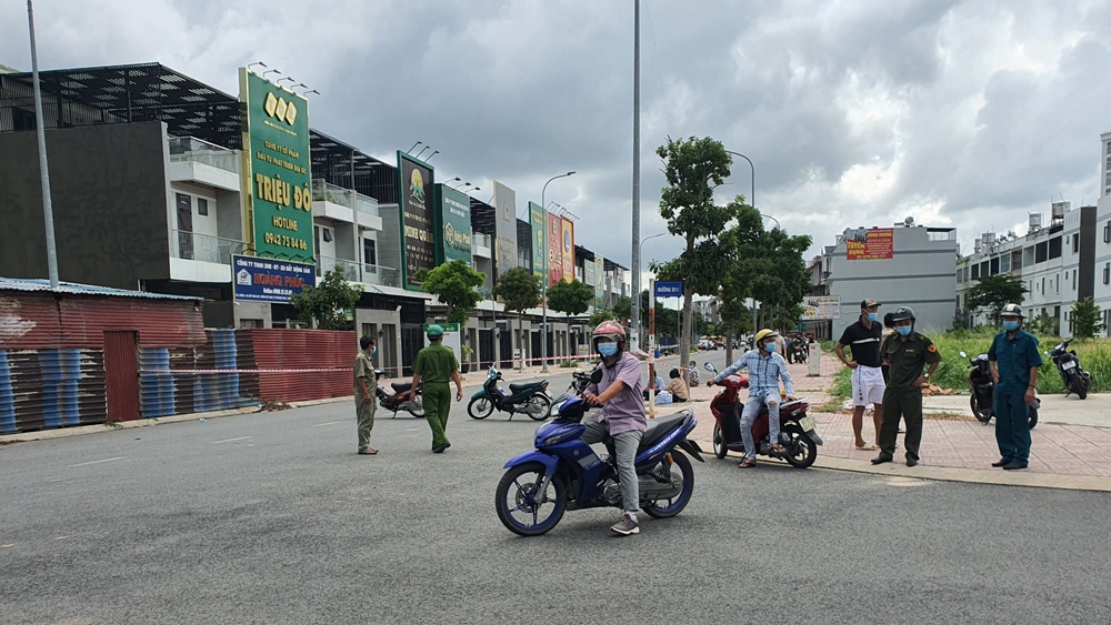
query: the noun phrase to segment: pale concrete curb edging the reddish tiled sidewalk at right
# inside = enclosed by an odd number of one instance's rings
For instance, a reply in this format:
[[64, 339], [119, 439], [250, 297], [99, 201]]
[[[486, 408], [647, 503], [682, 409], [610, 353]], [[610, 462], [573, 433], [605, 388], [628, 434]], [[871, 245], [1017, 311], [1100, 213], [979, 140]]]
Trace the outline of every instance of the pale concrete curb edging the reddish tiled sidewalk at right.
[[[713, 443], [697, 441], [699, 446], [713, 450]], [[710, 452], [712, 455], [712, 451]], [[912, 477], [915, 480], [933, 480], [938, 482], [961, 482], [964, 484], [990, 484], [993, 486], [1022, 486], [1028, 488], [1057, 488], [1060, 491], [1088, 491], [1111, 493], [1111, 480], [1092, 475], [1060, 475], [1057, 473], [1005, 472], [1001, 470], [963, 468], [955, 466], [928, 466], [920, 464], [914, 467], [890, 462], [874, 465], [867, 461], [829, 457], [818, 455], [814, 468], [825, 471], [843, 471], [849, 473], [867, 473], [890, 477]]]

